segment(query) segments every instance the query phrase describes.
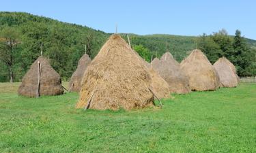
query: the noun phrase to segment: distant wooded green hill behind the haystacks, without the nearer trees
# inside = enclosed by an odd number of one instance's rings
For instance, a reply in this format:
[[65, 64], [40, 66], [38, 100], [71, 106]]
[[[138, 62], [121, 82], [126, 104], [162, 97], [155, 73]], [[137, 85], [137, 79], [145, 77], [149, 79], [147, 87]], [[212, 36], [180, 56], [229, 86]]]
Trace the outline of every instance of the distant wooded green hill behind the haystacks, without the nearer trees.
[[[19, 82], [27, 69], [40, 56], [41, 43], [43, 55], [48, 57], [53, 68], [68, 80], [85, 53], [94, 58], [111, 33], [104, 33], [78, 24], [60, 22], [43, 16], [34, 16], [23, 12], [0, 12], [0, 82], [10, 80], [10, 67], [4, 62], [4, 41], [6, 35], [12, 35], [17, 41], [13, 48], [12, 71], [14, 80]], [[7, 37], [7, 36], [6, 36]], [[122, 37], [127, 40], [126, 34]], [[148, 56], [161, 56], [169, 50], [177, 61], [188, 55], [190, 50], [197, 48], [198, 37], [178, 35], [134, 35], [129, 34], [132, 47], [146, 48]], [[256, 41], [246, 39], [248, 46], [256, 48]], [[2, 51], [1, 51], [2, 50]], [[143, 57], [145, 58], [145, 57]], [[2, 60], [1, 60], [2, 59]]]

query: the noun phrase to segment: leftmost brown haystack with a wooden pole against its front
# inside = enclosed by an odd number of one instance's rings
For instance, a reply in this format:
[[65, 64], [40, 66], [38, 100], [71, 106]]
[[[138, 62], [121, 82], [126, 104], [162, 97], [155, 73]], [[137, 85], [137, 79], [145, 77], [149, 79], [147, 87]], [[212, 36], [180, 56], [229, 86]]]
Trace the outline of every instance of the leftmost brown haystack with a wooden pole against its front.
[[61, 77], [43, 56], [31, 65], [18, 88], [18, 95], [36, 97], [38, 92], [38, 62], [41, 64], [39, 95], [61, 95]]

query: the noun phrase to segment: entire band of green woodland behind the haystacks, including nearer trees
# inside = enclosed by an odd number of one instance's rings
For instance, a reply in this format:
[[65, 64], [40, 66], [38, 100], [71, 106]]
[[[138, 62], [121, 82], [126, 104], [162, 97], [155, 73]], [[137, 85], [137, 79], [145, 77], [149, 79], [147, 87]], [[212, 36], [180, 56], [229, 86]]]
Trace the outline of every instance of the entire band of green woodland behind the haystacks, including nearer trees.
[[[201, 49], [211, 63], [226, 56], [236, 65], [240, 76], [256, 75], [256, 41], [234, 36], [222, 29], [198, 37], [180, 35], [135, 35], [130, 37], [132, 48], [146, 61], [171, 52], [182, 61], [195, 48]], [[38, 56], [46, 56], [62, 80], [69, 80], [79, 58], [87, 54], [94, 58], [111, 33], [78, 24], [60, 22], [23, 12], [0, 12], [0, 82], [20, 82]], [[86, 46], [86, 47], [85, 47]]]

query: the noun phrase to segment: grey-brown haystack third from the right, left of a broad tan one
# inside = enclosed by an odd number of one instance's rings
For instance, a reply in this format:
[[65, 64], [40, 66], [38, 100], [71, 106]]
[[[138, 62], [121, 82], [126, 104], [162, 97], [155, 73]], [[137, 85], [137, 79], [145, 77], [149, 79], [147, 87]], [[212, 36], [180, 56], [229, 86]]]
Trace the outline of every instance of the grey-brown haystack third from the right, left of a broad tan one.
[[182, 71], [180, 64], [175, 61], [171, 53], [166, 52], [163, 54], [156, 65], [152, 63], [152, 67], [169, 84], [170, 92], [186, 94], [191, 91], [188, 77], [184, 71]]

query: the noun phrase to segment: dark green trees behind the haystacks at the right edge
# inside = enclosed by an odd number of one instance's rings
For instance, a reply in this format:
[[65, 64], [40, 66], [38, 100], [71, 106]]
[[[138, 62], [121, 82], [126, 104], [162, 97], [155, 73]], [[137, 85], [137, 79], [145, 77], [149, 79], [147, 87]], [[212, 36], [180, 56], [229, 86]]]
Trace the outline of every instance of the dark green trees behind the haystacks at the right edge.
[[236, 30], [234, 37], [229, 36], [225, 29], [212, 35], [203, 33], [198, 39], [198, 48], [212, 64], [225, 56], [236, 66], [238, 75], [256, 75], [256, 50], [248, 46], [239, 30]]

